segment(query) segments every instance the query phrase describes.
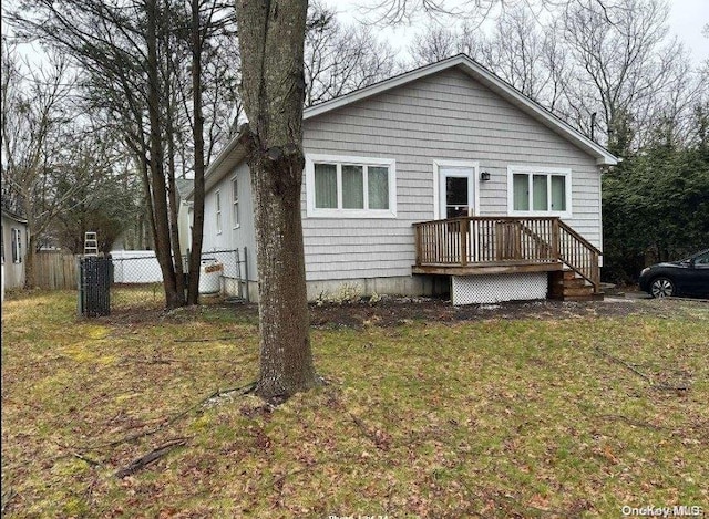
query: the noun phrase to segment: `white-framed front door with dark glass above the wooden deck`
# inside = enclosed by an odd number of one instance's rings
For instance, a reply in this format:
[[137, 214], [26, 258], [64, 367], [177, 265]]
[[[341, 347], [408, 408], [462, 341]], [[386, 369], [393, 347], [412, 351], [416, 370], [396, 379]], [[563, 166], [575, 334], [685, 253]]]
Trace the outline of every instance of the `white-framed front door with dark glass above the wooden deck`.
[[475, 204], [475, 167], [439, 166], [439, 218], [473, 216]]

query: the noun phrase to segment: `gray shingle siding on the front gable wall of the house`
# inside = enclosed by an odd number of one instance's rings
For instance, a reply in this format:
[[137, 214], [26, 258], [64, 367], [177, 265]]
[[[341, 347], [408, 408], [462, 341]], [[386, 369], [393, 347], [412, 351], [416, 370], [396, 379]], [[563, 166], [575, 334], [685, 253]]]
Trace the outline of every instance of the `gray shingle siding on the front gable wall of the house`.
[[433, 162], [477, 162], [481, 216], [507, 214], [507, 166], [572, 169], [573, 217], [600, 247], [600, 176], [595, 158], [520, 108], [450, 69], [305, 122], [306, 154], [397, 162], [397, 218], [308, 218], [308, 280], [410, 276], [415, 221], [434, 217]]

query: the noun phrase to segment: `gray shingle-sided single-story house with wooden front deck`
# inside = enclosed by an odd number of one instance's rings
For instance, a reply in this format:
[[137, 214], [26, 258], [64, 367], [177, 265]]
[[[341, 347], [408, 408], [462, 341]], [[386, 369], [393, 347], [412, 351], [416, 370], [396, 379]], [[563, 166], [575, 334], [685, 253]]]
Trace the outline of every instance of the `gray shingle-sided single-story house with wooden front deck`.
[[[618, 159], [466, 55], [307, 108], [304, 150], [310, 299], [599, 295], [600, 175]], [[203, 250], [247, 247], [256, 300], [240, 136], [205, 179]]]

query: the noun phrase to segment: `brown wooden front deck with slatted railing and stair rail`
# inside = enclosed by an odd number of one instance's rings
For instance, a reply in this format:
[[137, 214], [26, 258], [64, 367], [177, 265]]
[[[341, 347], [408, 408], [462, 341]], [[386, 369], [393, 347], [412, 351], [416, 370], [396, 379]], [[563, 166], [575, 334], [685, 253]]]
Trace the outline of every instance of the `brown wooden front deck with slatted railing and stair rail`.
[[557, 217], [461, 217], [413, 226], [413, 273], [474, 276], [566, 268], [600, 291], [600, 251]]

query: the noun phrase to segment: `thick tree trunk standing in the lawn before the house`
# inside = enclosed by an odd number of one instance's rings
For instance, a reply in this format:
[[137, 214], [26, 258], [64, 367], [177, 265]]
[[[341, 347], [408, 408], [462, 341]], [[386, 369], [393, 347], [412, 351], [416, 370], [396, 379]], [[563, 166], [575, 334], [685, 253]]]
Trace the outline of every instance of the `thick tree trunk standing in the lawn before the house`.
[[259, 276], [257, 394], [285, 399], [314, 387], [300, 189], [307, 0], [237, 0], [244, 142], [254, 189]]

